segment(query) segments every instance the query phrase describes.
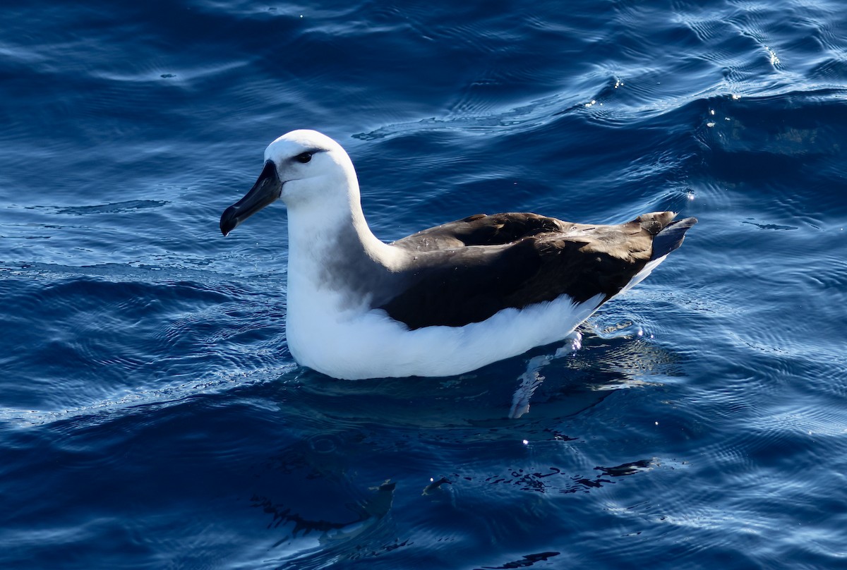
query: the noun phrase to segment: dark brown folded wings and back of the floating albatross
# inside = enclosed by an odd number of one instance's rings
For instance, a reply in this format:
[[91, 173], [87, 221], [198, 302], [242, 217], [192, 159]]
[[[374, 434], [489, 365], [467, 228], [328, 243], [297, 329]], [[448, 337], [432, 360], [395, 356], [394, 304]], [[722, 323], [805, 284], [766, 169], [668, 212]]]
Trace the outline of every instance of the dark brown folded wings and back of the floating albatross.
[[563, 294], [606, 302], [650, 261], [654, 236], [673, 215], [588, 225], [533, 213], [479, 214], [424, 230], [393, 244], [419, 255], [402, 272], [401, 294], [379, 308], [418, 329], [475, 323]]

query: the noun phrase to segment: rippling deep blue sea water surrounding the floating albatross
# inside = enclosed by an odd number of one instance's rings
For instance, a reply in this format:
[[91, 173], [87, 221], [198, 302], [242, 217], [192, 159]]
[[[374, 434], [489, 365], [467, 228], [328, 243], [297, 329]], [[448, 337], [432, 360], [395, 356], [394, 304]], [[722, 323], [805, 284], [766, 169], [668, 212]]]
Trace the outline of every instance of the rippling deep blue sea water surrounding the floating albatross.
[[[0, 567], [847, 565], [840, 0], [7, 2], [0, 97]], [[297, 128], [386, 241], [700, 224], [576, 351], [329, 379], [218, 229]]]

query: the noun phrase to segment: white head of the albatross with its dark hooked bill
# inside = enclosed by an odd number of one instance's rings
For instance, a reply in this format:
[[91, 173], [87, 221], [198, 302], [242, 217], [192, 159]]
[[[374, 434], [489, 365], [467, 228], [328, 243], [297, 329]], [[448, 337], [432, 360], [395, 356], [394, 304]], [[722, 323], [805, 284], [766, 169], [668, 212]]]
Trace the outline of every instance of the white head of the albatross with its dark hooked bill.
[[345, 150], [315, 130], [292, 130], [265, 149], [265, 167], [256, 184], [220, 219], [224, 235], [245, 219], [281, 199], [291, 212], [320, 208], [325, 213], [358, 208], [359, 186]]

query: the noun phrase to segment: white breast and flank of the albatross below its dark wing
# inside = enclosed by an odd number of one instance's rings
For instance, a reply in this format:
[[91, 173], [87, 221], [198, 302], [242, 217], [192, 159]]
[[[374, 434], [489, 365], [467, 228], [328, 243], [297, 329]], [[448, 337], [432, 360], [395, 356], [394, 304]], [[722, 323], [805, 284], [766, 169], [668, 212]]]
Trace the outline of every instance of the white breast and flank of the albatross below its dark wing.
[[[594, 313], [601, 296], [575, 305], [560, 296], [480, 323], [409, 330], [376, 309], [338, 312], [338, 294], [302, 297], [289, 287], [286, 336], [297, 362], [340, 379], [452, 376], [562, 340]], [[295, 297], [292, 298], [292, 292]], [[335, 297], [335, 298], [333, 298]]]

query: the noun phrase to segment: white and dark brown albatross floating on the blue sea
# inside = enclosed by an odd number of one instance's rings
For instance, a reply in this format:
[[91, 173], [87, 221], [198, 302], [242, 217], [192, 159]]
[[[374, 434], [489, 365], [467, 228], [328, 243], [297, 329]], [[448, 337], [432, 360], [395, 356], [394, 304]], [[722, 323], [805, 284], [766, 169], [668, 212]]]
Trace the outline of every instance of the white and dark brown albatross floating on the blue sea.
[[563, 340], [697, 222], [673, 212], [617, 225], [479, 213], [385, 243], [365, 221], [350, 157], [329, 136], [293, 130], [264, 161], [220, 230], [285, 202], [288, 347], [337, 379], [464, 374]]

